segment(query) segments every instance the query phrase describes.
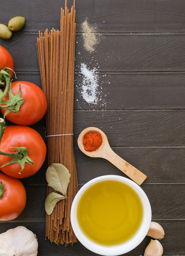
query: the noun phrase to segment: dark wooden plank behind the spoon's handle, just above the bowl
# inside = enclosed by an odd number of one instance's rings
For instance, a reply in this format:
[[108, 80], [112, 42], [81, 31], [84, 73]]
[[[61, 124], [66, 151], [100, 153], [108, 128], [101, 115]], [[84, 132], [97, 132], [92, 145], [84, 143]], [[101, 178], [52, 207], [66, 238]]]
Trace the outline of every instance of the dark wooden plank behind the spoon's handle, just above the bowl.
[[[118, 147], [113, 150], [130, 164], [147, 175], [145, 184], [184, 183], [184, 148]], [[123, 175], [105, 159], [84, 156], [75, 151], [79, 184], [84, 184], [99, 173]], [[93, 171], [89, 170], [89, 166]], [[124, 175], [123, 175], [124, 176]]]

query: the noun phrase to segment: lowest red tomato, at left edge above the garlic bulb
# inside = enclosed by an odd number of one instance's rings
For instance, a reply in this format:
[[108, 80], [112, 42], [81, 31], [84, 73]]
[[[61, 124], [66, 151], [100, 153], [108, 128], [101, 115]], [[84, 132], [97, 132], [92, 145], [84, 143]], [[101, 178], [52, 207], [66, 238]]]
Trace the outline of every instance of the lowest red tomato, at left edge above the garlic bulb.
[[0, 220], [8, 221], [17, 218], [26, 205], [26, 190], [18, 179], [0, 173], [0, 186], [4, 186], [0, 197]]

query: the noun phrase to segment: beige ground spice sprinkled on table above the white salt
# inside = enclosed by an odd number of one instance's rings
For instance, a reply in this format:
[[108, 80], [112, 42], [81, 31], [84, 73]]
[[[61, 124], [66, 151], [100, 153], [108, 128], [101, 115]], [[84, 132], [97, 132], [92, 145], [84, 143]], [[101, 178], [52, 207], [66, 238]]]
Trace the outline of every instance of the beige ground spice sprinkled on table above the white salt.
[[96, 27], [88, 24], [87, 20], [82, 23], [81, 27], [83, 31], [84, 48], [90, 53], [94, 52], [95, 45], [98, 43], [97, 35], [95, 34]]

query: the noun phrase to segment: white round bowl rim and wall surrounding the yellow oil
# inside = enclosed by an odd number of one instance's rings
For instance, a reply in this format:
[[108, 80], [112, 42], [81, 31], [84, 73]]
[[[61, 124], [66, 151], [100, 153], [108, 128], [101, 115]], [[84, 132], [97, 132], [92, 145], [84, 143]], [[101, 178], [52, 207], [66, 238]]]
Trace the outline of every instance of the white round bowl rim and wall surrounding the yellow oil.
[[[90, 238], [88, 238], [88, 236], [84, 234], [84, 232], [81, 230], [81, 227], [79, 225], [78, 218], [77, 218], [78, 203], [79, 203], [79, 200], [81, 199], [81, 196], [84, 194], [84, 192], [87, 189], [89, 189], [92, 185], [97, 184], [97, 182], [102, 182], [106, 180], [115, 180], [115, 181], [123, 182], [124, 184], [127, 184], [128, 186], [130, 186], [139, 196], [141, 200], [142, 208], [143, 208], [143, 217], [141, 220], [141, 225], [137, 229], [136, 233], [131, 238], [129, 238], [129, 240], [117, 245], [101, 245], [91, 240]], [[75, 233], [75, 236], [77, 237], [79, 242], [82, 245], [84, 245], [84, 247], [89, 249], [91, 252], [104, 255], [104, 256], [117, 256], [117, 255], [130, 252], [132, 249], [136, 248], [143, 241], [146, 234], [148, 233], [151, 218], [152, 218], [152, 213], [151, 213], [150, 202], [148, 200], [147, 195], [143, 191], [143, 189], [141, 189], [141, 187], [135, 182], [133, 182], [132, 180], [119, 175], [104, 175], [104, 176], [96, 177], [93, 180], [90, 180], [89, 182], [87, 182], [84, 186], [81, 187], [81, 189], [79, 189], [79, 191], [75, 195], [75, 198], [71, 206], [71, 213], [70, 213], [71, 225]]]

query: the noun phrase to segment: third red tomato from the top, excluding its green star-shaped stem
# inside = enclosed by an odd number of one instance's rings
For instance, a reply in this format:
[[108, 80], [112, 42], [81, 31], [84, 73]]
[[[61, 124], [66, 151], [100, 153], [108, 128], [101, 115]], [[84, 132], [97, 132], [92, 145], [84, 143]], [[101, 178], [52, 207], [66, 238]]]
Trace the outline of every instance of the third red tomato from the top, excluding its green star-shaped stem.
[[[26, 147], [28, 149], [28, 157], [33, 161], [33, 165], [25, 163], [24, 170], [21, 171], [19, 163], [8, 164], [0, 167], [0, 170], [14, 178], [25, 178], [35, 174], [46, 158], [46, 144], [41, 135], [29, 126], [12, 125], [6, 126], [0, 143], [0, 151], [16, 152], [15, 148]], [[12, 157], [0, 155], [0, 166], [11, 161]]]

